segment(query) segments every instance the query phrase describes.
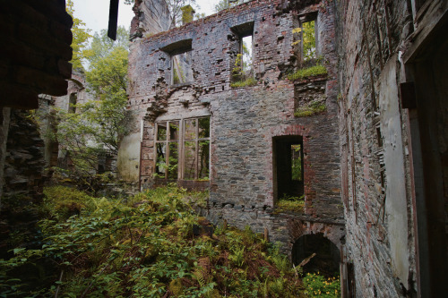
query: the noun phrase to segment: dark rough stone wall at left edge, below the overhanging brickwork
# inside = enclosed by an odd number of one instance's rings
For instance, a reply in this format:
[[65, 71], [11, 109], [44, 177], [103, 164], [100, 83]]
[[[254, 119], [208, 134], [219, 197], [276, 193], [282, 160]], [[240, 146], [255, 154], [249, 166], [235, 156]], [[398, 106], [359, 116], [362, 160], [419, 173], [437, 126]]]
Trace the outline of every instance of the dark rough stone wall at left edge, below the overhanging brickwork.
[[44, 142], [30, 112], [13, 109], [8, 130], [0, 213], [2, 257], [17, 245], [33, 247], [39, 241], [35, 226], [39, 220], [37, 206], [46, 180]]

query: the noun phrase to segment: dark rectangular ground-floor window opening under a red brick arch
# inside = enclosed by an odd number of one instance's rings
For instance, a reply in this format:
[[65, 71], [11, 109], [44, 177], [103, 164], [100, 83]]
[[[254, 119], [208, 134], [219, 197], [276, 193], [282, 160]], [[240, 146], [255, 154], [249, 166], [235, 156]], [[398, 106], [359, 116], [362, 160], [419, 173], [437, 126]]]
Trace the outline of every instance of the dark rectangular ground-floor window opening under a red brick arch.
[[277, 200], [303, 200], [304, 150], [301, 136], [273, 139], [274, 187]]

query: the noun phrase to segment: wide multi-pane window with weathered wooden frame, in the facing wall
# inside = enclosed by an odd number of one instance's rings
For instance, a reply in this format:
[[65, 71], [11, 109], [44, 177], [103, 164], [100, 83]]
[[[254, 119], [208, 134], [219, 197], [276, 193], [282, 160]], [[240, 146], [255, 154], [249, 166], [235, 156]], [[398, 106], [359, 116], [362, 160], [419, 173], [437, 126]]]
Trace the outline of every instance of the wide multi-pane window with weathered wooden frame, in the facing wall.
[[209, 180], [210, 117], [156, 123], [156, 177]]

